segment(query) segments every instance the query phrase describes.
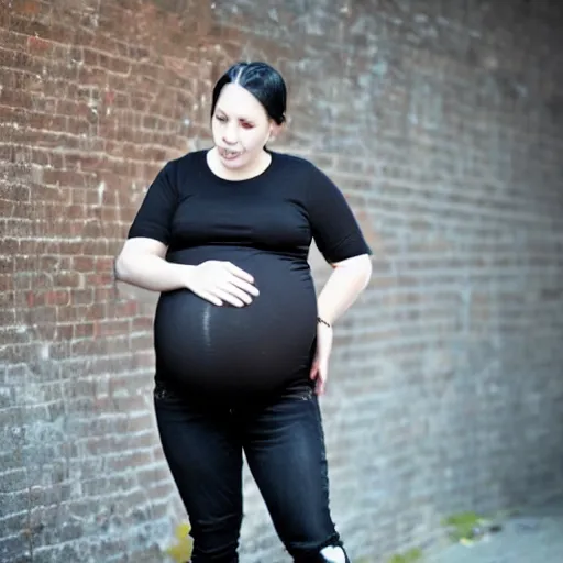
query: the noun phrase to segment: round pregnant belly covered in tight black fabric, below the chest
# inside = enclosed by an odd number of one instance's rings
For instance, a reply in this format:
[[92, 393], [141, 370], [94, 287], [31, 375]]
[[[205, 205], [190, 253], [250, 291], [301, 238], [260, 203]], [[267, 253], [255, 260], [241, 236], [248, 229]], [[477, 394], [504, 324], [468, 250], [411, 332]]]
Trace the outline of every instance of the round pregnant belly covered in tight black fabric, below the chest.
[[249, 306], [218, 307], [189, 290], [163, 294], [155, 317], [158, 376], [178, 389], [251, 396], [307, 378], [317, 330], [309, 266], [256, 250], [191, 249], [174, 262], [230, 261], [254, 276]]

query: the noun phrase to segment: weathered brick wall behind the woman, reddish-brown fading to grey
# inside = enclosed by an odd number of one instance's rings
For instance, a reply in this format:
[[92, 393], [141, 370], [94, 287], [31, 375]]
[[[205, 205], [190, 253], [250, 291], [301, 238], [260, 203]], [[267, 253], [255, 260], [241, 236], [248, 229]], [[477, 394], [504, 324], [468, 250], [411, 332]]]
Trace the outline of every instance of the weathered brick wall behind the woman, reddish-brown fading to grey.
[[[352, 555], [562, 487], [562, 24], [556, 1], [3, 0], [0, 561], [155, 562], [184, 518], [154, 298], [111, 263], [239, 58], [285, 74], [277, 147], [340, 184], [376, 253], [323, 400]], [[244, 561], [282, 562], [246, 477]]]

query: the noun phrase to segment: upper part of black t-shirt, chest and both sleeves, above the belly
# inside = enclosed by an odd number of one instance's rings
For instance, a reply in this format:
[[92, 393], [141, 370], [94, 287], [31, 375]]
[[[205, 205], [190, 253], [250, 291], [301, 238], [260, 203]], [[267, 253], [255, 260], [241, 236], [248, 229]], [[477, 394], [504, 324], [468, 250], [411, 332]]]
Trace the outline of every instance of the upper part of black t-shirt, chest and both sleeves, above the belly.
[[207, 151], [168, 162], [150, 186], [129, 238], [157, 240], [168, 254], [221, 244], [307, 257], [311, 239], [329, 263], [371, 254], [334, 183], [303, 158], [271, 154], [265, 172], [240, 181], [213, 174]]

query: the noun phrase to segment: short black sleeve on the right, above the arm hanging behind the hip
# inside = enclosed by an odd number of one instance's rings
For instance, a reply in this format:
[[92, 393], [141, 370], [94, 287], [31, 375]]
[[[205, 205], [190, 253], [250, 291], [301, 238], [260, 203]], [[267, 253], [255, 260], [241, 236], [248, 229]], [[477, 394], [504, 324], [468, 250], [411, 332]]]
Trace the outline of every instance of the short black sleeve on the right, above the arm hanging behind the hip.
[[311, 165], [308, 214], [317, 247], [329, 263], [372, 254], [342, 191]]

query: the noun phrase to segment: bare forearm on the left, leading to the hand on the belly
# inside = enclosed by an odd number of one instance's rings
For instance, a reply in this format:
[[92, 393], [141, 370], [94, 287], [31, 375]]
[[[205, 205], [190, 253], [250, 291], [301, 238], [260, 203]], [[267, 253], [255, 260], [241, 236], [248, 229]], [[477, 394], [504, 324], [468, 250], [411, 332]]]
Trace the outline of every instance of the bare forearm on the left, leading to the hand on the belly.
[[152, 254], [125, 254], [115, 260], [115, 277], [150, 291], [173, 291], [186, 287], [189, 271], [194, 267], [172, 264]]

